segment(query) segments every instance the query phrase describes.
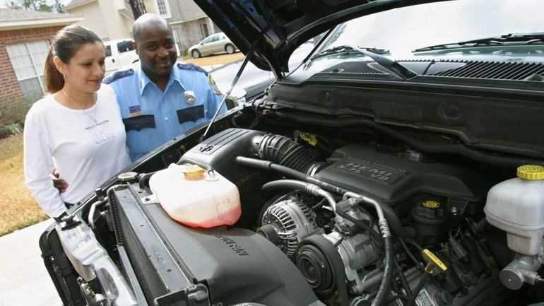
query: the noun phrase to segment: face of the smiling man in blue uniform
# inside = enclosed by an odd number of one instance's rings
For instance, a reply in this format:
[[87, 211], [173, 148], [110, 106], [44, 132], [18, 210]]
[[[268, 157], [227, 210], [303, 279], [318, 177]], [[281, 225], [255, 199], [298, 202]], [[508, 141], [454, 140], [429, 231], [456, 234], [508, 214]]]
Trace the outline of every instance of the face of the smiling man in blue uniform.
[[141, 29], [135, 47], [146, 73], [170, 76], [177, 52], [172, 31], [167, 26], [160, 23], [146, 25]]

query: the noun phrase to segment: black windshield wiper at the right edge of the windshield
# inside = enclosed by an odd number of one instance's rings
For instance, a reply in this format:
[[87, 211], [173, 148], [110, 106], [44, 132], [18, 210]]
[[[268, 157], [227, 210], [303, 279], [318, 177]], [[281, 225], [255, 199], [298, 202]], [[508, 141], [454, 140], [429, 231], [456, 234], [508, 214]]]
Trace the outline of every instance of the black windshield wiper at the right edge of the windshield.
[[431, 51], [439, 49], [456, 49], [463, 47], [502, 46], [502, 45], [533, 45], [544, 44], [544, 33], [510, 33], [499, 37], [480, 38], [478, 40], [466, 40], [464, 42], [451, 42], [448, 44], [422, 47], [412, 52]]

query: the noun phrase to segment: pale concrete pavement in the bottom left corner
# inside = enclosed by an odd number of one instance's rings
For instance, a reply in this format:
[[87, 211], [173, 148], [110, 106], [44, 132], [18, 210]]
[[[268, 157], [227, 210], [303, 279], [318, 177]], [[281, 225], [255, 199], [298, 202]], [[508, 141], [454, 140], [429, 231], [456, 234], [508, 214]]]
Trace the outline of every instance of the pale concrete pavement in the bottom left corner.
[[51, 223], [46, 220], [0, 237], [0, 306], [62, 305], [38, 245]]

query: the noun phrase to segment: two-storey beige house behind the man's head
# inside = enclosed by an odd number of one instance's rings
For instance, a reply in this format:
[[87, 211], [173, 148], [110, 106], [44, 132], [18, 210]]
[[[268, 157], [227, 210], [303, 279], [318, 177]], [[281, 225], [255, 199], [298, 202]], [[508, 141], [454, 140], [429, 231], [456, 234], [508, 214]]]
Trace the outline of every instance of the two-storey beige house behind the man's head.
[[[192, 0], [143, 0], [148, 13], [165, 18], [174, 32], [179, 50], [186, 51], [204, 37], [220, 32]], [[102, 40], [131, 37], [134, 23], [129, 4], [124, 0], [72, 0], [64, 11], [81, 15], [79, 24], [95, 31]]]

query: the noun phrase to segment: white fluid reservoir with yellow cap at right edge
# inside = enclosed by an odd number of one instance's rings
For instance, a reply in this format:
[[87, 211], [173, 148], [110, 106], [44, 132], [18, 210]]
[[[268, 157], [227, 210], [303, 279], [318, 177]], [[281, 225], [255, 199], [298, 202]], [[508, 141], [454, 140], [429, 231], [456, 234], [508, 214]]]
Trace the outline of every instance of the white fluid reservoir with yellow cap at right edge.
[[507, 233], [514, 252], [536, 255], [544, 235], [544, 167], [518, 167], [518, 177], [496, 184], [487, 193], [485, 216]]

